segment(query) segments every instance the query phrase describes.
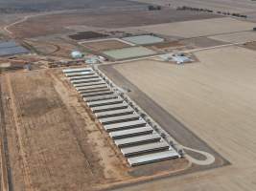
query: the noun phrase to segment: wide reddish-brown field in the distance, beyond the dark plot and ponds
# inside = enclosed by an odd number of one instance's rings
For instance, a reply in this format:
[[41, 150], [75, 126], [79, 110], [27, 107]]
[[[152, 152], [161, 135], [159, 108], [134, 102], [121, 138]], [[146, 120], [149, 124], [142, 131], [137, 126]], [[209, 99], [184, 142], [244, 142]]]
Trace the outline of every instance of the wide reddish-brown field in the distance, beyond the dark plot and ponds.
[[16, 37], [35, 37], [53, 33], [71, 32], [71, 26], [93, 28], [123, 28], [217, 17], [194, 11], [76, 11], [29, 18], [10, 28]]

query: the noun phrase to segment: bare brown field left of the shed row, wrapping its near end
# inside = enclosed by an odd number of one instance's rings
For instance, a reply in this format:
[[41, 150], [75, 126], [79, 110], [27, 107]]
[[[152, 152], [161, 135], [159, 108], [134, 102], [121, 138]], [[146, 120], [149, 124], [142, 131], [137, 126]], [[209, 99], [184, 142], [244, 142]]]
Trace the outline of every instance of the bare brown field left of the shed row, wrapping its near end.
[[2, 156], [13, 190], [92, 191], [170, 176], [191, 165], [172, 159], [128, 168], [60, 71], [16, 72], [0, 80]]

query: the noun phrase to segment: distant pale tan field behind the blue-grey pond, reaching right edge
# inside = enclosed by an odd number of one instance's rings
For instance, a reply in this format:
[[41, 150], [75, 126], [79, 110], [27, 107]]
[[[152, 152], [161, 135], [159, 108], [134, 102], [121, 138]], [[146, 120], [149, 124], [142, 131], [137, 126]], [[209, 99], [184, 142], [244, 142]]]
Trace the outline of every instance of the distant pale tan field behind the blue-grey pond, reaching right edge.
[[225, 17], [151, 25], [138, 29], [145, 32], [189, 38], [229, 32], [251, 31], [253, 27], [255, 27], [253, 23]]

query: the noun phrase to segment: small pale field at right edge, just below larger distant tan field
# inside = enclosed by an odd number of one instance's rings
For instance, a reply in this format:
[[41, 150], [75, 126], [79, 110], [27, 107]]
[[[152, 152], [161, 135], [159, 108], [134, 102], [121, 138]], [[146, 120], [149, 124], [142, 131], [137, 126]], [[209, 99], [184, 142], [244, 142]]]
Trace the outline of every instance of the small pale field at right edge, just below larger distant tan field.
[[256, 41], [256, 32], [235, 32], [230, 34], [210, 36], [209, 38], [229, 43], [245, 43]]

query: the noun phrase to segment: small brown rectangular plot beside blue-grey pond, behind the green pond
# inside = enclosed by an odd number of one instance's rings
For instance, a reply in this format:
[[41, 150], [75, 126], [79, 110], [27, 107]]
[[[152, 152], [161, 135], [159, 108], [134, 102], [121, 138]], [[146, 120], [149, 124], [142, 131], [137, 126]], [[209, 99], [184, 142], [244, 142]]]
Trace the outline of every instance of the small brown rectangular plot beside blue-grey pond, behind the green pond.
[[128, 48], [130, 45], [118, 41], [118, 40], [102, 40], [102, 41], [94, 41], [94, 42], [85, 42], [81, 44], [85, 48], [96, 51], [96, 52], [101, 52], [101, 51], [107, 51], [107, 50], [113, 50], [113, 49], [123, 49], [123, 48]]

